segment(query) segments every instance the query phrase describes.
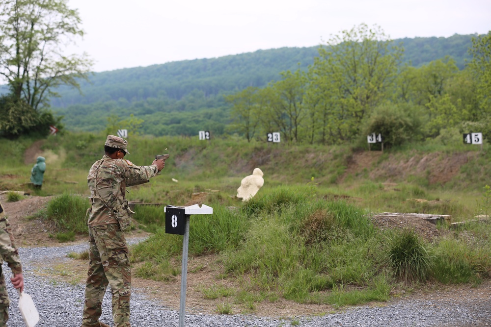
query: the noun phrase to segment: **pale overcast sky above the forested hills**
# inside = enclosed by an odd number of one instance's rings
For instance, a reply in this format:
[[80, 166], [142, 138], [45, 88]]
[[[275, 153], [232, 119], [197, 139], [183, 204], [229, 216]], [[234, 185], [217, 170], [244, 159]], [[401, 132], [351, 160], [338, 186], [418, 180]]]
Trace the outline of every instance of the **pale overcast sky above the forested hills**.
[[485, 34], [491, 0], [68, 0], [93, 71], [311, 47], [365, 23], [393, 39]]

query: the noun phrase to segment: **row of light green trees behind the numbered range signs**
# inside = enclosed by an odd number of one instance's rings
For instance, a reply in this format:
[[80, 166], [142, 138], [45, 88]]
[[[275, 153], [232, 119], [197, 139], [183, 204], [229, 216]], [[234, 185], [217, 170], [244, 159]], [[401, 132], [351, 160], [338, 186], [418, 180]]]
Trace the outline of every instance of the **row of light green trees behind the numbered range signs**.
[[474, 128], [491, 137], [491, 31], [472, 39], [459, 70], [449, 56], [420, 67], [379, 26], [344, 30], [319, 48], [306, 71], [226, 96], [231, 130], [247, 140], [281, 132], [288, 142], [336, 144], [382, 133], [384, 143]]

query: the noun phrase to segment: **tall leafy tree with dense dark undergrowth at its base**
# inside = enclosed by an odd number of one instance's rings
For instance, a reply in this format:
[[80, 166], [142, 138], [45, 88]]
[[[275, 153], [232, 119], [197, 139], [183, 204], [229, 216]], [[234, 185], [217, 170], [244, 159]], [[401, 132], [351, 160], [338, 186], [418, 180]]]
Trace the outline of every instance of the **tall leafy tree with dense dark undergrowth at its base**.
[[46, 135], [61, 117], [49, 110], [56, 88], [79, 88], [91, 60], [66, 56], [60, 47], [82, 36], [78, 12], [63, 0], [0, 0], [0, 80], [8, 92], [0, 97], [0, 135]]

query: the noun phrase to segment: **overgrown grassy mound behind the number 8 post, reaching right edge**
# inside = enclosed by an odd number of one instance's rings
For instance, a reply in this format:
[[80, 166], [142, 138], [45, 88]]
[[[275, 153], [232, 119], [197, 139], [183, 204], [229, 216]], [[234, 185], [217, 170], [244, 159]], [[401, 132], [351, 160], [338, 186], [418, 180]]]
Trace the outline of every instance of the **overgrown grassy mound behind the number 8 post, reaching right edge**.
[[[428, 243], [412, 230], [376, 230], [353, 204], [296, 191], [280, 187], [236, 209], [214, 204], [213, 215], [192, 219], [190, 255], [217, 253], [225, 275], [258, 294], [339, 306], [386, 301], [399, 281], [476, 282], [491, 271], [486, 231], [472, 251], [458, 235]], [[132, 252], [150, 278], [165, 280], [178, 271], [182, 236], [160, 228]]]

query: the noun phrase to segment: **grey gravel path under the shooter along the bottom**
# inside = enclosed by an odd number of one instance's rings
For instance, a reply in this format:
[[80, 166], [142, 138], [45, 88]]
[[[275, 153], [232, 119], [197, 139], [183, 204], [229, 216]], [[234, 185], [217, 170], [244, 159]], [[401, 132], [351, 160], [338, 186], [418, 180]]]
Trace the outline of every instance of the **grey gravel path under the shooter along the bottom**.
[[[22, 248], [26, 293], [36, 303], [41, 317], [37, 327], [80, 327], [82, 323], [84, 285], [54, 282], [53, 277], [36, 274], [33, 263], [48, 258], [66, 258], [69, 252], [82, 252], [87, 244], [56, 248]], [[68, 258], [66, 260], [69, 260]], [[4, 271], [8, 271], [6, 265]], [[17, 308], [17, 292], [7, 283], [11, 295], [9, 327], [24, 327]], [[484, 301], [473, 298], [444, 300], [404, 300], [369, 308], [361, 306], [325, 316], [298, 316], [294, 320], [260, 318], [245, 315], [186, 315], [187, 327], [483, 327], [491, 326], [491, 295]], [[109, 288], [103, 302], [101, 321], [111, 324]], [[133, 327], [178, 326], [179, 313], [145, 298], [138, 289], [132, 290], [131, 323]]]

